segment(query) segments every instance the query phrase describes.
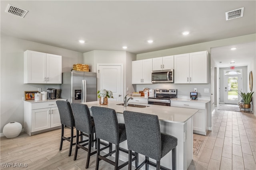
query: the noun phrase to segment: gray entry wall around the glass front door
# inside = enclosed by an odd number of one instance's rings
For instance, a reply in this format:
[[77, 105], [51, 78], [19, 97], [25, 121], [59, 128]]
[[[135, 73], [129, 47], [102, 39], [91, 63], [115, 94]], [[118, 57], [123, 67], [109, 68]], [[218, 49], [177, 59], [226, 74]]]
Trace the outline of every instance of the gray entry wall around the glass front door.
[[[242, 69], [242, 91], [247, 92], [247, 66], [235, 67]], [[220, 68], [220, 103], [225, 103], [224, 99], [224, 70], [230, 70], [230, 67]]]

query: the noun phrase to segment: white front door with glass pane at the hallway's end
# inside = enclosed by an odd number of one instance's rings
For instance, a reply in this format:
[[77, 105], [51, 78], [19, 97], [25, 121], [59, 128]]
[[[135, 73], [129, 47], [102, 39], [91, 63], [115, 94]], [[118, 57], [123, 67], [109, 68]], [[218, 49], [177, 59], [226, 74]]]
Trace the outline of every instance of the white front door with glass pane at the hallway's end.
[[242, 91], [241, 75], [225, 75], [224, 93], [226, 104], [237, 104], [241, 100], [238, 94]]

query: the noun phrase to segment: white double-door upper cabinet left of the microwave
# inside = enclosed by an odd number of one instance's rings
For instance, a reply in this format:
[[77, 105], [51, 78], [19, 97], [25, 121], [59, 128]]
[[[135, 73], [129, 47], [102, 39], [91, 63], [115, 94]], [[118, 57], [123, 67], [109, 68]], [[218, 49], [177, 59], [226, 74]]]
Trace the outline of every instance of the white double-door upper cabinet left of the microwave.
[[132, 61], [132, 84], [151, 84], [152, 59]]

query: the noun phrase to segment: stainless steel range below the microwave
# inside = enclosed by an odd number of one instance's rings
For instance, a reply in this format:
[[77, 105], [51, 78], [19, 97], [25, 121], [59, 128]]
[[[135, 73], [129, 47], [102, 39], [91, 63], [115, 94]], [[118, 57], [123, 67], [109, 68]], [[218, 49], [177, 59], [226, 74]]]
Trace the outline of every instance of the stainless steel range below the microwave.
[[177, 98], [177, 89], [156, 89], [155, 97], [148, 97], [148, 104], [171, 106], [171, 100]]

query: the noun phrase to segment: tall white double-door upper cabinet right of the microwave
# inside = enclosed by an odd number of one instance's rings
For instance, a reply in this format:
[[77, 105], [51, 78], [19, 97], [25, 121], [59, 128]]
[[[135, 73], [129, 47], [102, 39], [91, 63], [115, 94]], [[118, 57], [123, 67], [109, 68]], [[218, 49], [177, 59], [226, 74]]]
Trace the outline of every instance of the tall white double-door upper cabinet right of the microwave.
[[208, 51], [174, 55], [174, 83], [207, 84]]

